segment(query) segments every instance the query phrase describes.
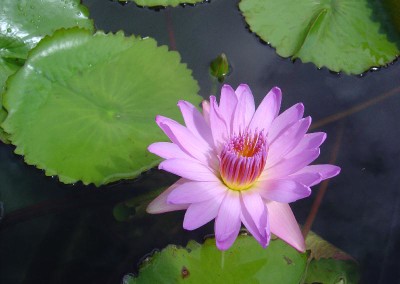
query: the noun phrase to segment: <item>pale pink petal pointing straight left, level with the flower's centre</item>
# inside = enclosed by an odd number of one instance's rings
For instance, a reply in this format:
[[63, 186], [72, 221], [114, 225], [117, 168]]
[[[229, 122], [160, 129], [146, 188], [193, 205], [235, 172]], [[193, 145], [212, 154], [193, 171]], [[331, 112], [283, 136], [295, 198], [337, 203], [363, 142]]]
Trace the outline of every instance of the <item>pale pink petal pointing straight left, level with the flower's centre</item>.
[[160, 163], [160, 170], [194, 181], [219, 181], [210, 168], [197, 161], [168, 159]]

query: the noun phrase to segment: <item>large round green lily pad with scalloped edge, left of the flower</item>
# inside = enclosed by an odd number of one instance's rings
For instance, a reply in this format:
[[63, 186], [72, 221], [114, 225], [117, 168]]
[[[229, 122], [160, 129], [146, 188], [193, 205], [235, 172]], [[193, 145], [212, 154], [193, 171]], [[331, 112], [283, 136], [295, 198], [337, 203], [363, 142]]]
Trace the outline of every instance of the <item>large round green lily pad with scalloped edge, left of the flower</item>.
[[151, 38], [59, 30], [9, 78], [2, 126], [17, 154], [64, 183], [134, 178], [159, 162], [147, 151], [166, 140], [155, 116], [200, 102], [180, 60]]

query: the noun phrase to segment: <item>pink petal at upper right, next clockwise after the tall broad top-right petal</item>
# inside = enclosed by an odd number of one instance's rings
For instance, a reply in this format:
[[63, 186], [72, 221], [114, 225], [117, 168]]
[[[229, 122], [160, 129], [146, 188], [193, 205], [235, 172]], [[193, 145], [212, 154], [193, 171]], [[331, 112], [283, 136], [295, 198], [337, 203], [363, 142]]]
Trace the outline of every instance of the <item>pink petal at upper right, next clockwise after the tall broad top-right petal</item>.
[[293, 123], [303, 117], [304, 106], [301, 103], [295, 104], [283, 113], [278, 115], [271, 124], [268, 131], [268, 141], [272, 143], [280, 133], [284, 132]]

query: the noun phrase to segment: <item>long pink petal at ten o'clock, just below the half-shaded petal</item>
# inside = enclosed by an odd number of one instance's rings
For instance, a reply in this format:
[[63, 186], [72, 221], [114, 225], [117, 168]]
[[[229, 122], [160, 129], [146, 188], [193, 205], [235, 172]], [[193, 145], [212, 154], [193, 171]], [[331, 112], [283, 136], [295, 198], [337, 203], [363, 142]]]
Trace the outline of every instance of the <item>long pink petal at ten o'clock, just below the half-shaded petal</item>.
[[196, 139], [196, 136], [189, 129], [163, 116], [157, 116], [156, 122], [169, 139], [177, 144], [185, 153], [206, 165], [209, 163], [208, 155], [212, 152], [211, 148], [200, 139]]

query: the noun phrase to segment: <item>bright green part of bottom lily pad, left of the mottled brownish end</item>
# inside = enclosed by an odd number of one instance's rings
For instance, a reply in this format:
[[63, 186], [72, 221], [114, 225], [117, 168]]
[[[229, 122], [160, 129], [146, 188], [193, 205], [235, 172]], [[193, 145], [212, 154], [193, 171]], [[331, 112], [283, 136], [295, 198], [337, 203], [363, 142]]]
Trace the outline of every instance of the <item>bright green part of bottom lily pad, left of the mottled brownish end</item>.
[[307, 254], [285, 242], [271, 240], [263, 249], [253, 237], [239, 236], [221, 252], [215, 239], [203, 245], [194, 241], [186, 248], [169, 245], [156, 252], [140, 268], [139, 276], [126, 276], [125, 283], [299, 283]]

